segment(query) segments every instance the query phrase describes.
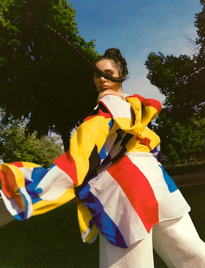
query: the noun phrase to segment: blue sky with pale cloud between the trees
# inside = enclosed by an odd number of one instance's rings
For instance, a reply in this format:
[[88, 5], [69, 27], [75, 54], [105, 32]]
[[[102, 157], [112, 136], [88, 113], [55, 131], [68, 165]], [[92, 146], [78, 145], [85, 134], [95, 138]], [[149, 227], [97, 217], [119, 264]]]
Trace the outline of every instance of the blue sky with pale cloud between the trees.
[[194, 39], [195, 13], [202, 11], [200, 0], [68, 0], [76, 10], [80, 35], [95, 39], [100, 54], [119, 48], [126, 58], [129, 78], [123, 91], [164, 100], [146, 78], [145, 61], [150, 52], [164, 55], [191, 55], [187, 37]]

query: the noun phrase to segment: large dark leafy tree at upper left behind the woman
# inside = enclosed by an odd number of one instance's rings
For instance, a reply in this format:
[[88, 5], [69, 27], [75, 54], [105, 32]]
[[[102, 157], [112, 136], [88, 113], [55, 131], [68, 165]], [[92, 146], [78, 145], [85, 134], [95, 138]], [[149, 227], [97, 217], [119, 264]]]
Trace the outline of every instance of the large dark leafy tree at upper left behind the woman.
[[97, 97], [93, 69], [73, 46], [90, 62], [98, 53], [74, 19], [66, 0], [0, 1], [0, 107], [15, 118], [28, 117], [31, 133], [60, 134], [65, 150], [71, 129]]

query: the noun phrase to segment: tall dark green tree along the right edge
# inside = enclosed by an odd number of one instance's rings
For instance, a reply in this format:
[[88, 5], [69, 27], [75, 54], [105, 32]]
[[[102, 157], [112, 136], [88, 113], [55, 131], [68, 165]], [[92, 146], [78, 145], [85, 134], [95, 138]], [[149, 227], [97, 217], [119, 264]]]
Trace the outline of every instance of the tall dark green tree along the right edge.
[[150, 53], [145, 63], [148, 79], [165, 95], [165, 101], [155, 131], [168, 160], [202, 151], [205, 140], [205, 1], [202, 12], [195, 15], [198, 54], [179, 57]]

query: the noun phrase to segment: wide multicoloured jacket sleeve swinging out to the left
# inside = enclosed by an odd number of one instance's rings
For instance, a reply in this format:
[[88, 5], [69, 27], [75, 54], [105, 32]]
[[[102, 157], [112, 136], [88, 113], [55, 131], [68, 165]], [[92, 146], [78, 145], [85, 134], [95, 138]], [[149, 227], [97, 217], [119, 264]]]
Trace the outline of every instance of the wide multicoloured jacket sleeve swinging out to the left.
[[25, 220], [73, 199], [74, 187], [100, 164], [111, 126], [111, 115], [101, 104], [77, 128], [69, 150], [50, 169], [27, 162], [1, 164], [1, 196], [11, 215]]

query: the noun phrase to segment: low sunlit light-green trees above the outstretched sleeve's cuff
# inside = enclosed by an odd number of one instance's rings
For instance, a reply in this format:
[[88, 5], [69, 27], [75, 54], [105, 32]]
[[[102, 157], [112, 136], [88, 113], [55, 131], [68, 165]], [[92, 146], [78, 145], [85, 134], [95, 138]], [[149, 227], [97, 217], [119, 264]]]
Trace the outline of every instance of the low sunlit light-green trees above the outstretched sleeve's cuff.
[[53, 160], [63, 153], [62, 141], [50, 134], [37, 138], [37, 133], [26, 132], [26, 119], [8, 118], [4, 124], [5, 112], [0, 111], [0, 158], [5, 163], [14, 161], [32, 162], [49, 168]]

